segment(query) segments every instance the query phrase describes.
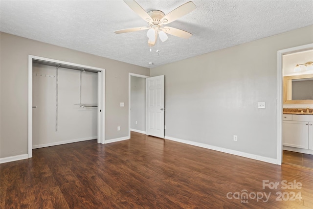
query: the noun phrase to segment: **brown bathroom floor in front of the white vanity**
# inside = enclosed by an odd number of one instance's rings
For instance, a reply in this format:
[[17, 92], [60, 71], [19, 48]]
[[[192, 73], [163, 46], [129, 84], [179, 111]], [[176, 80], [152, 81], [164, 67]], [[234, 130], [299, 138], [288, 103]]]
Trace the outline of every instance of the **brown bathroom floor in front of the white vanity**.
[[283, 150], [283, 163], [294, 164], [313, 169], [313, 155]]

